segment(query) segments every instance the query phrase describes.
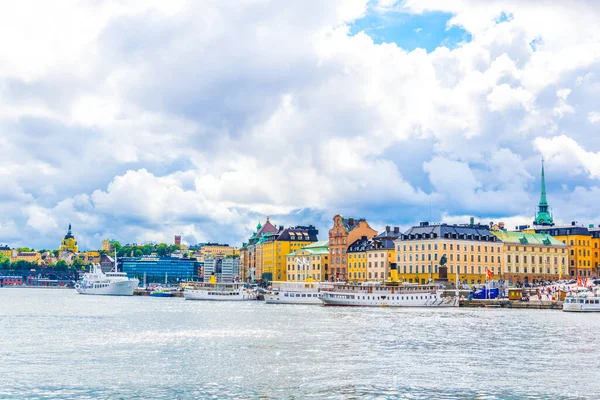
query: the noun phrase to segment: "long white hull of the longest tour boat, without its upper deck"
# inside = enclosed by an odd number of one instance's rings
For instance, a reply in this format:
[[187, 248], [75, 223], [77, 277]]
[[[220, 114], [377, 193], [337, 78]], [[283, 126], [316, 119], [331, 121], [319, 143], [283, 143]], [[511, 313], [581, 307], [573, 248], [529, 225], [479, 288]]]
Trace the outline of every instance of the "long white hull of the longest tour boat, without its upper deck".
[[458, 307], [456, 297], [439, 294], [378, 296], [366, 294], [326, 293], [321, 296], [325, 306], [344, 307]]

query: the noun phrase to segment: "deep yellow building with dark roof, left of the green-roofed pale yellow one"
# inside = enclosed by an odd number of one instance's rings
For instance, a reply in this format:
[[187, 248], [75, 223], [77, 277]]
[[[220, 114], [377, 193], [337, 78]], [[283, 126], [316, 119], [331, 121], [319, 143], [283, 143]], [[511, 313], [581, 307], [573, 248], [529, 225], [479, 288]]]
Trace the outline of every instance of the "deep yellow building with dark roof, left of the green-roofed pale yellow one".
[[262, 279], [285, 281], [286, 255], [316, 242], [319, 231], [313, 226], [279, 227], [277, 233], [268, 233], [259, 242]]

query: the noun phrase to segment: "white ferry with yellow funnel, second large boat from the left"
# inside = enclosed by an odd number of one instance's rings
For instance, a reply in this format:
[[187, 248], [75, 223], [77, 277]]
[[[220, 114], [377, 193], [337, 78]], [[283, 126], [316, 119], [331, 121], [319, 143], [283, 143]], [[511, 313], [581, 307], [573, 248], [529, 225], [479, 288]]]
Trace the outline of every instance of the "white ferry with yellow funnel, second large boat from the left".
[[214, 275], [207, 283], [196, 283], [188, 286], [183, 291], [186, 300], [213, 300], [213, 301], [247, 301], [256, 300], [256, 291], [246, 287], [244, 283], [217, 282]]

